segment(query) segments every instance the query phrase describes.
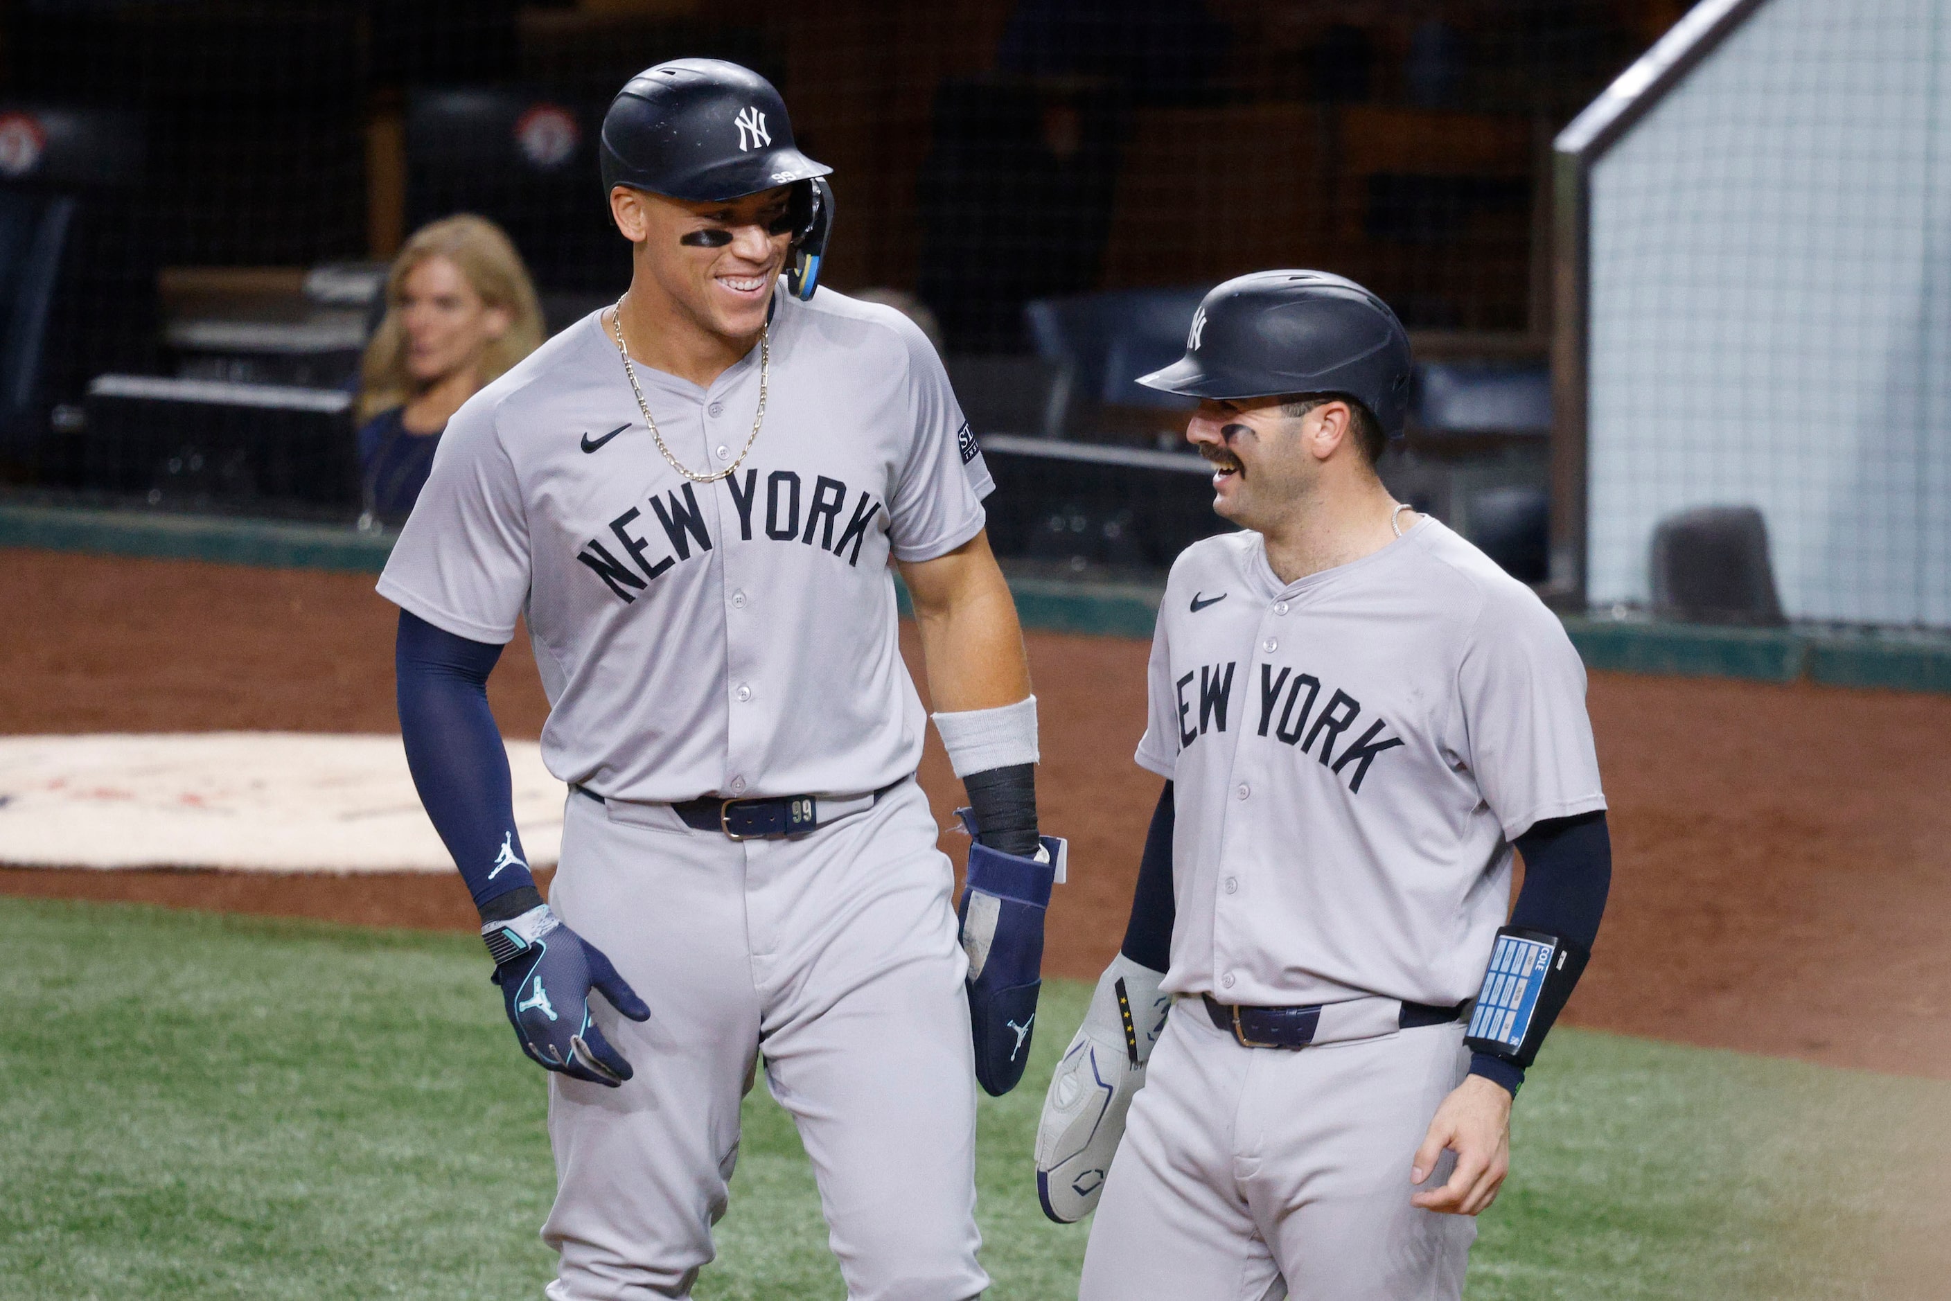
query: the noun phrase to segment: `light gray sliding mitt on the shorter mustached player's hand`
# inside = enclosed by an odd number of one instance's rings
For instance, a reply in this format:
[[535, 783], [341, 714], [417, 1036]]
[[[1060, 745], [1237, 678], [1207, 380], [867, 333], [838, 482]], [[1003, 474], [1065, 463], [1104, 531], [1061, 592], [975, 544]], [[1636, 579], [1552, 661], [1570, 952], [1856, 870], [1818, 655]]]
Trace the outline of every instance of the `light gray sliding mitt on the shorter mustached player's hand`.
[[1173, 995], [1159, 993], [1163, 979], [1165, 971], [1118, 954], [1098, 977], [1085, 1024], [1050, 1077], [1036, 1127], [1036, 1198], [1044, 1215], [1059, 1225], [1073, 1225], [1096, 1209], [1124, 1137], [1124, 1116], [1145, 1084], [1151, 1045], [1173, 1006]]

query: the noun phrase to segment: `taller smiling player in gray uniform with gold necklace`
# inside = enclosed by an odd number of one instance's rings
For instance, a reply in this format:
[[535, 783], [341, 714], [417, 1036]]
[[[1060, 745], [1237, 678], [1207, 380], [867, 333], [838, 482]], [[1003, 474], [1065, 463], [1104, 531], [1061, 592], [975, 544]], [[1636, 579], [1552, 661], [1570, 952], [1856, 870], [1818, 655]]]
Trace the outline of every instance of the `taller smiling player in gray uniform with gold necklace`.
[[[745, 68], [624, 86], [630, 289], [462, 406], [378, 583], [414, 778], [552, 1073], [556, 1301], [691, 1293], [761, 1061], [851, 1297], [987, 1285], [976, 1083], [1022, 1071], [1063, 854], [989, 474], [921, 332], [816, 296], [827, 172]], [[960, 919], [892, 568], [974, 806]], [[486, 700], [517, 618], [572, 786], [546, 903]]]

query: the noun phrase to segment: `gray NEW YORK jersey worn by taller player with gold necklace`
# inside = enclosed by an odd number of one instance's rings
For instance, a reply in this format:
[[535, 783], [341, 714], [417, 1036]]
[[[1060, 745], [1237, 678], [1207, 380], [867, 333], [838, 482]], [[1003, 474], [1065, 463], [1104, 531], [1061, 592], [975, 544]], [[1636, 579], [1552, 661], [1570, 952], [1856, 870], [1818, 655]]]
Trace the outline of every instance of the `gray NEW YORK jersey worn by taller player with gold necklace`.
[[[665, 464], [587, 316], [470, 398], [378, 591], [437, 628], [529, 622], [550, 772], [617, 800], [858, 794], [915, 770], [921, 700], [888, 568], [983, 527], [991, 480], [899, 312], [773, 298], [765, 425], [726, 480]], [[737, 456], [759, 349], [708, 388], [638, 367], [695, 472]]]

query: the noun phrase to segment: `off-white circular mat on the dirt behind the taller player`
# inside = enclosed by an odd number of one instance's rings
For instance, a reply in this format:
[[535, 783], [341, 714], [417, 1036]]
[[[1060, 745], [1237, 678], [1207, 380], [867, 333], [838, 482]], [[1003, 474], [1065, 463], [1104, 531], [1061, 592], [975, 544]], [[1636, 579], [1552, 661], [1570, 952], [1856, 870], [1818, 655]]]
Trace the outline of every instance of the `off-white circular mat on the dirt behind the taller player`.
[[[562, 848], [566, 788], [509, 741], [533, 866]], [[0, 737], [0, 864], [453, 872], [398, 735], [199, 731]]]

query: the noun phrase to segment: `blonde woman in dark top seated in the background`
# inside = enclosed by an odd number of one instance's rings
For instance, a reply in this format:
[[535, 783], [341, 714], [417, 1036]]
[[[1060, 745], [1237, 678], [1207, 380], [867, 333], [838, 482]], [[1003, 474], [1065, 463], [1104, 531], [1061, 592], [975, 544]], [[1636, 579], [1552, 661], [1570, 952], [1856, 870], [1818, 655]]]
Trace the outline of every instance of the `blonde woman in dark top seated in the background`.
[[369, 519], [398, 525], [412, 513], [447, 419], [540, 341], [535, 285], [499, 226], [462, 213], [414, 232], [386, 275], [386, 316], [361, 365]]

